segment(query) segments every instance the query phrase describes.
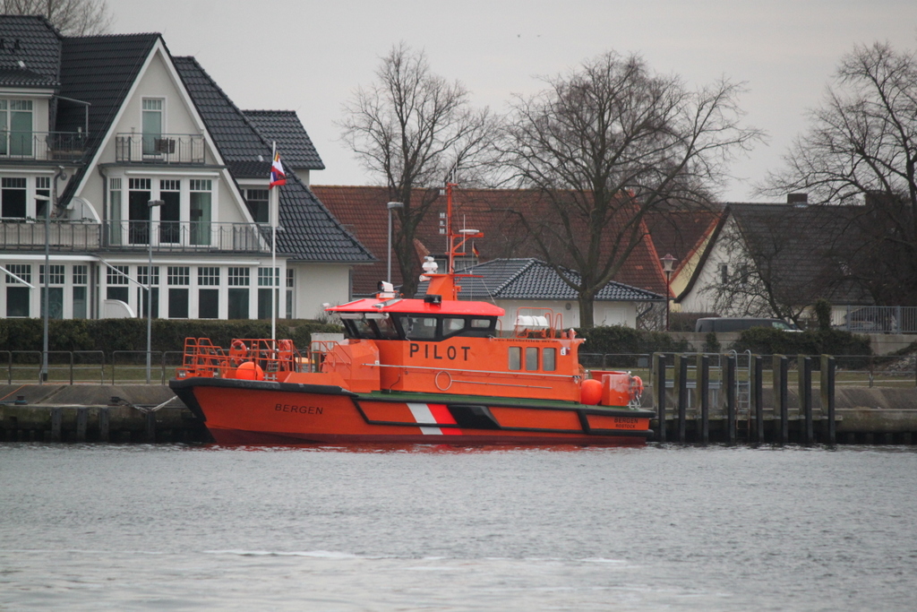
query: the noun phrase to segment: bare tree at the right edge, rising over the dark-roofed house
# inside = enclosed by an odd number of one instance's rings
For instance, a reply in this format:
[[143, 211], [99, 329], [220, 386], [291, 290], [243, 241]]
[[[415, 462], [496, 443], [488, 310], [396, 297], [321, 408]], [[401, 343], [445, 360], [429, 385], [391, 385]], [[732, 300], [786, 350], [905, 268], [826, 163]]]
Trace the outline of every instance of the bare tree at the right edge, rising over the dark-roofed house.
[[[768, 176], [766, 194], [809, 193], [845, 206], [835, 251], [878, 304], [917, 304], [917, 59], [857, 46], [837, 69], [811, 128]], [[840, 212], [838, 214], [841, 214]]]

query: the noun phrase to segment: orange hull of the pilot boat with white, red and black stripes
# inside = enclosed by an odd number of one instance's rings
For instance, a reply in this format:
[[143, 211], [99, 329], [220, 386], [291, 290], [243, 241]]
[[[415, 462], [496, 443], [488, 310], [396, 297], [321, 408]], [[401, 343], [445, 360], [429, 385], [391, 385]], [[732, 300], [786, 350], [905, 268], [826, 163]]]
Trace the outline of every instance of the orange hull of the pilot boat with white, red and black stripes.
[[492, 396], [356, 394], [335, 385], [171, 382], [220, 444], [643, 444], [645, 410]]

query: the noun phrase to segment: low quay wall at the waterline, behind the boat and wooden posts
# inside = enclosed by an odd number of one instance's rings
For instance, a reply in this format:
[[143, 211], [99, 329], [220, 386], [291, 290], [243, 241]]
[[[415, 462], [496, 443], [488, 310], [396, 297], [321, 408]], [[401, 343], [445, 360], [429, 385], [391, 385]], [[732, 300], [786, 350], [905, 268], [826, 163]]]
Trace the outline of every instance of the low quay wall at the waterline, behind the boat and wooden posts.
[[[774, 406], [773, 389], [764, 405]], [[798, 394], [788, 390], [789, 441], [802, 440], [804, 418]], [[656, 410], [651, 389], [644, 407]], [[912, 444], [917, 442], [917, 389], [839, 387], [835, 391], [835, 428], [842, 443]], [[666, 400], [667, 440], [676, 440], [677, 398]], [[819, 395], [812, 396], [815, 440], [827, 440], [826, 416]], [[765, 441], [779, 439], [779, 411], [763, 411]], [[701, 440], [698, 406], [686, 410], [686, 441]], [[751, 440], [750, 411], [740, 406], [737, 440]], [[658, 431], [658, 419], [652, 427]], [[709, 440], [728, 441], [724, 406], [710, 406]], [[210, 441], [204, 424], [161, 385], [0, 385], [0, 441], [44, 442], [202, 442]]]

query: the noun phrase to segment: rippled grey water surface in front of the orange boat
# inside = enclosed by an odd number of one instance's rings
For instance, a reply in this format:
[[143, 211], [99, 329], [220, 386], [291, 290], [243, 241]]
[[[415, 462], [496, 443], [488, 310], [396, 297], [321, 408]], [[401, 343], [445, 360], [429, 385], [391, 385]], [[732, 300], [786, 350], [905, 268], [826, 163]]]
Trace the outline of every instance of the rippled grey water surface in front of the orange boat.
[[2, 610], [912, 610], [917, 452], [0, 445]]

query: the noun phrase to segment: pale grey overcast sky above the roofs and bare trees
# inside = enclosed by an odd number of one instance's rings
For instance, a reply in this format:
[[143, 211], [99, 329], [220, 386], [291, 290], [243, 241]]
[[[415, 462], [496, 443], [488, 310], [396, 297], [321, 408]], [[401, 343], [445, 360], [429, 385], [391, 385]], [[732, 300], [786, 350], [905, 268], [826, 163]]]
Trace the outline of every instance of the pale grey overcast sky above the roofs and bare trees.
[[340, 142], [341, 106], [400, 40], [458, 79], [477, 106], [505, 111], [606, 50], [635, 51], [688, 83], [746, 82], [746, 123], [768, 132], [721, 194], [746, 201], [822, 99], [856, 43], [917, 50], [917, 0], [108, 0], [115, 33], [160, 32], [193, 55], [240, 107], [293, 109], [326, 170], [314, 184], [379, 184]]

